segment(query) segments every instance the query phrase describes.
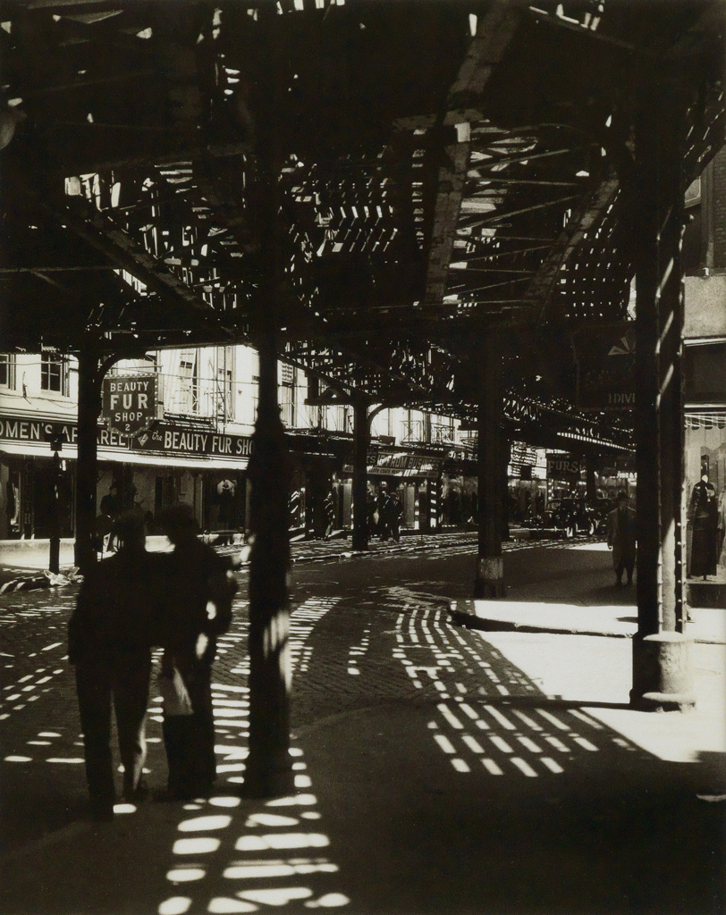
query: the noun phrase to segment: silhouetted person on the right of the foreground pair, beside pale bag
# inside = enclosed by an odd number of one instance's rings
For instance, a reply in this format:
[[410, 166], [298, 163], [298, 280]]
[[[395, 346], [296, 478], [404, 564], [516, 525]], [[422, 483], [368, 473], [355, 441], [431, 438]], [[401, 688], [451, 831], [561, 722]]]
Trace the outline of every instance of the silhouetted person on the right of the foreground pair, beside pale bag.
[[[162, 732], [168, 760], [169, 800], [210, 793], [216, 779], [211, 664], [217, 637], [232, 621], [237, 590], [231, 563], [197, 538], [189, 505], [164, 512], [161, 527], [174, 545], [164, 557], [162, 677], [188, 695], [191, 714], [165, 707]], [[170, 685], [169, 684], [169, 685]]]

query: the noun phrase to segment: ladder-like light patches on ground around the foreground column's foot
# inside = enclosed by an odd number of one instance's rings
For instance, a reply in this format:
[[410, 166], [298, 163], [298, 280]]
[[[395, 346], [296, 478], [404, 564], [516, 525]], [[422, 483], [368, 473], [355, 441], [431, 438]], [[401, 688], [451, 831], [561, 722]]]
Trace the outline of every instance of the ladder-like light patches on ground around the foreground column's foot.
[[[289, 633], [293, 673], [309, 669], [309, 634], [336, 603], [312, 598], [295, 608]], [[174, 864], [167, 871], [174, 893], [159, 903], [157, 915], [256, 912], [287, 905], [340, 909], [350, 902], [335, 883], [330, 884], [339, 867], [328, 856], [330, 838], [321, 828], [318, 799], [311, 793], [301, 748], [290, 748], [298, 793], [255, 802], [231, 792], [244, 784], [248, 754], [246, 638], [247, 622], [238, 613], [232, 629], [220, 639], [221, 657], [215, 665], [220, 676], [212, 682], [219, 792], [184, 805], [188, 816], [177, 825], [179, 837], [171, 847]], [[240, 646], [242, 651], [234, 651]], [[223, 682], [225, 655], [232, 662], [230, 684]]]

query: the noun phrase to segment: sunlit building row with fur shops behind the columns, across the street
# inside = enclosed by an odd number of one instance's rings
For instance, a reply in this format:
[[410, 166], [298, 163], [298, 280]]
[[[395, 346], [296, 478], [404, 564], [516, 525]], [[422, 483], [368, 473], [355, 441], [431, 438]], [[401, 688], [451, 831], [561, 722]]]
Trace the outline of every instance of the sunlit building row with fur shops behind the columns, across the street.
[[[184, 501], [204, 531], [246, 531], [257, 380], [255, 350], [245, 346], [159, 350], [114, 365], [98, 425], [97, 514], [113, 493], [117, 507], [141, 511], [154, 533], [159, 513]], [[285, 362], [278, 400], [291, 531], [324, 533], [329, 494], [333, 527], [350, 528], [352, 407], [309, 404], [305, 373]], [[55, 511], [60, 535], [73, 536], [77, 402], [74, 359], [52, 350], [0, 356], [0, 539], [48, 537]], [[406, 528], [472, 520], [471, 443], [457, 421], [392, 408], [374, 416], [371, 433], [370, 500], [398, 490]]]

